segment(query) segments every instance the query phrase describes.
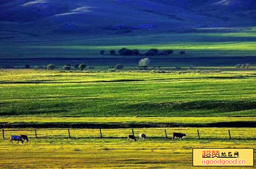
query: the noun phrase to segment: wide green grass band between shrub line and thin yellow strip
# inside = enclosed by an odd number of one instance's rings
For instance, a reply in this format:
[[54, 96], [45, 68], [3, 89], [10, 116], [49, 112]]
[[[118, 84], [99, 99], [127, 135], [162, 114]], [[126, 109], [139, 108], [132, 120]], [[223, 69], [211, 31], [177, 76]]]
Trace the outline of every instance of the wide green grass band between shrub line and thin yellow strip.
[[1, 116], [252, 117], [255, 72], [1, 71]]

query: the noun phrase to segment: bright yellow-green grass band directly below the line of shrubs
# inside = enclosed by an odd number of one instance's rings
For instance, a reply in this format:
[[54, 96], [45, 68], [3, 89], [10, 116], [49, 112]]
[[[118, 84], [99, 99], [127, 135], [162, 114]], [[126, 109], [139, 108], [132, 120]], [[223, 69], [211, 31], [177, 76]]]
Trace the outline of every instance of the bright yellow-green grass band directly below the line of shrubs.
[[[248, 78], [255, 80], [255, 70], [237, 70], [209, 73], [182, 73], [174, 71], [170, 73], [151, 73], [136, 71], [117, 71], [117, 72], [96, 72], [96, 71], [51, 71], [51, 70], [33, 70], [33, 69], [0, 69], [0, 83], [18, 83], [18, 82], [116, 82], [121, 80], [141, 80], [143, 81], [170, 81], [170, 80], [209, 80], [209, 79], [239, 79]], [[213, 81], [213, 80], [212, 80]], [[221, 80], [223, 81], [223, 80]], [[131, 83], [125, 82], [124, 83]]]

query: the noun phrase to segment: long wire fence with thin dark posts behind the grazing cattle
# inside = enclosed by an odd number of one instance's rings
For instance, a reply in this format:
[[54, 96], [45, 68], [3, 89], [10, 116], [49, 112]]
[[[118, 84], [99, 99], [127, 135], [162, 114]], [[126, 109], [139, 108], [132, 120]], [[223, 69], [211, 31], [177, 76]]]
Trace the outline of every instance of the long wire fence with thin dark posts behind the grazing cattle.
[[185, 133], [187, 138], [192, 139], [256, 139], [254, 128], [120, 128], [120, 129], [63, 129], [63, 128], [5, 128], [2, 129], [3, 138], [11, 135], [27, 135], [30, 138], [127, 138], [133, 134], [139, 137], [145, 133], [147, 138], [172, 138], [173, 132]]

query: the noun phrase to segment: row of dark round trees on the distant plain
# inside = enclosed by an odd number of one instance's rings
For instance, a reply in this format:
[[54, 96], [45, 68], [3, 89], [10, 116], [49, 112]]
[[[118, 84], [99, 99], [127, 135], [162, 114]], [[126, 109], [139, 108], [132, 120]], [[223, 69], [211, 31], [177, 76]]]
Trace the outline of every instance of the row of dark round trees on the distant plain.
[[[110, 50], [109, 54], [111, 55], [145, 55], [145, 56], [155, 56], [155, 55], [170, 55], [170, 54], [173, 54], [174, 53], [174, 50], [172, 49], [168, 49], [168, 50], [158, 50], [158, 49], [155, 49], [155, 48], [152, 48], [150, 50], [148, 50], [147, 52], [145, 53], [140, 53], [140, 51], [138, 49], [128, 49], [128, 48], [122, 48], [120, 50], [118, 50], [118, 53], [112, 49]], [[183, 55], [185, 54], [186, 52], [184, 50], [182, 51], [179, 51], [180, 55]], [[103, 54], [106, 54], [106, 51], [105, 50], [100, 50], [100, 54], [103, 55]]]

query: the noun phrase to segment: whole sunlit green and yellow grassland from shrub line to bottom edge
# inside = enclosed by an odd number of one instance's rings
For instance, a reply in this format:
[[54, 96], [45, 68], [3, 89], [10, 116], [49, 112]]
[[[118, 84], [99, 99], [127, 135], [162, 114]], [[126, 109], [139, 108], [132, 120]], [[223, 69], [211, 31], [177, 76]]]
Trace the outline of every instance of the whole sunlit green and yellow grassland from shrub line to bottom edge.
[[256, 148], [255, 74], [1, 70], [0, 167], [192, 168], [193, 148]]

